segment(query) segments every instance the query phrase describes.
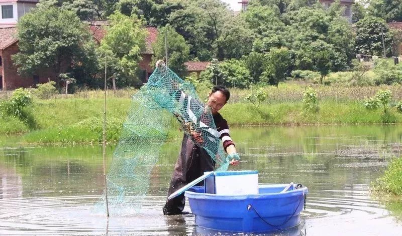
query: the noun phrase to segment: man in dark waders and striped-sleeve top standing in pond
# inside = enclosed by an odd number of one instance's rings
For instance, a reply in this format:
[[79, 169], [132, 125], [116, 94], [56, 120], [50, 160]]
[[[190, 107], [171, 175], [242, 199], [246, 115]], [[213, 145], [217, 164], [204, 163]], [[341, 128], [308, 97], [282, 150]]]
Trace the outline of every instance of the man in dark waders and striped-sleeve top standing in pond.
[[[210, 107], [212, 116], [214, 118], [215, 126], [219, 132], [219, 138], [223, 142], [223, 147], [228, 153], [231, 165], [239, 164], [239, 155], [236, 152], [236, 147], [232, 141], [229, 133], [229, 126], [226, 120], [219, 114], [219, 110], [226, 104], [230, 98], [230, 92], [223, 86], [215, 86], [208, 98], [207, 106]], [[193, 139], [197, 138], [192, 137]], [[194, 144], [191, 137], [184, 134], [181, 143], [181, 150], [177, 158], [174, 172], [170, 182], [168, 195], [175, 192], [177, 189], [183, 187], [192, 180], [203, 175], [205, 171], [212, 171], [215, 167], [215, 161], [207, 151]], [[184, 193], [177, 197], [168, 199], [163, 207], [163, 214], [180, 214], [184, 208]]]

